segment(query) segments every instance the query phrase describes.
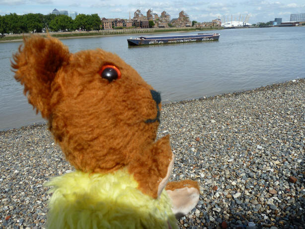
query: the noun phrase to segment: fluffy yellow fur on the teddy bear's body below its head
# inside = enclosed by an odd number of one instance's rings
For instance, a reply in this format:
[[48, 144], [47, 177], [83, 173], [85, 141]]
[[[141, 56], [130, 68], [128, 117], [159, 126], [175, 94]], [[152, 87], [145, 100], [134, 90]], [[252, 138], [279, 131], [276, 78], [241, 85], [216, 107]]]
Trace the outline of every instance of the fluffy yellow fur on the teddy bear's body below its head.
[[53, 186], [50, 229], [177, 228], [166, 191], [157, 199], [144, 195], [126, 169], [108, 174], [75, 171], [52, 178], [46, 186]]

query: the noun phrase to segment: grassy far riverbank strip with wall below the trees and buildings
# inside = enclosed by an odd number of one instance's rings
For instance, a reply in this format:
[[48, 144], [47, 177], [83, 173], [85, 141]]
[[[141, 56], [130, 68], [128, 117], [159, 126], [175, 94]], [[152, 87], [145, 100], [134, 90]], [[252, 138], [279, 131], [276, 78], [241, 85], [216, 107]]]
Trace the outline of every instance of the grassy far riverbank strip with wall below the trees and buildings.
[[[191, 32], [191, 31], [208, 31], [208, 30], [219, 30], [220, 27], [209, 27], [209, 28], [151, 28], [151, 29], [113, 29], [113, 30], [100, 30], [100, 31], [80, 31], [80, 32], [50, 32], [52, 37], [59, 39], [64, 38], [81, 38], [81, 37], [103, 37], [103, 36], [117, 36], [117, 35], [129, 35], [129, 34], [142, 34], [142, 33], [173, 33], [173, 32]], [[6, 35], [0, 38], [0, 42], [8, 41], [21, 41], [23, 36], [30, 36], [33, 33], [26, 34], [12, 34]], [[46, 33], [35, 33], [42, 36], [47, 36]]]

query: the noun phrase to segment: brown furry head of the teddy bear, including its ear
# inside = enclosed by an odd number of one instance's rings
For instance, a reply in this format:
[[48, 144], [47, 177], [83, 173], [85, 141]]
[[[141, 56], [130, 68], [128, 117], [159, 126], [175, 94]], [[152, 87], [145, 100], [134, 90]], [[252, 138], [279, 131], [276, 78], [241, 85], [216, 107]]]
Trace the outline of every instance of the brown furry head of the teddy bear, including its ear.
[[14, 62], [29, 103], [76, 169], [117, 170], [155, 141], [160, 95], [117, 55], [71, 54], [55, 38], [32, 36]]

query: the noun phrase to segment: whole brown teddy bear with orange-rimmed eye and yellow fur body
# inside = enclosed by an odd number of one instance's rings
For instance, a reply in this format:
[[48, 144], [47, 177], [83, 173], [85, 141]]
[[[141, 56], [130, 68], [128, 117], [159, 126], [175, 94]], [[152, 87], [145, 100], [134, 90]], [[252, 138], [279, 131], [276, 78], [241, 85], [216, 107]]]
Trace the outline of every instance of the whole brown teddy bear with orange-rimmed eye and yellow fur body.
[[196, 181], [168, 182], [174, 155], [169, 136], [156, 139], [159, 92], [117, 55], [72, 54], [33, 35], [11, 66], [76, 169], [46, 184], [48, 228], [173, 229], [196, 206]]

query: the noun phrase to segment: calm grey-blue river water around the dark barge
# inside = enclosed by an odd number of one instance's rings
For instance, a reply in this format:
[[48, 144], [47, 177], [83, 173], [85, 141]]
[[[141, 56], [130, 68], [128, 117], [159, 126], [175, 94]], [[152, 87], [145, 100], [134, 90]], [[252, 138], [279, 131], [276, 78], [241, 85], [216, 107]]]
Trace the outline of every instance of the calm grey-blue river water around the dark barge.
[[[127, 38], [131, 35], [126, 35], [63, 39], [62, 42], [73, 53], [102, 48], [118, 54], [161, 92], [163, 103], [305, 77], [304, 26], [213, 32], [221, 33], [219, 41], [128, 47]], [[167, 33], [174, 34], [196, 32]], [[157, 34], [160, 35], [165, 34]], [[11, 72], [11, 56], [20, 44], [0, 43], [0, 130], [43, 121], [28, 104], [23, 87]]]

